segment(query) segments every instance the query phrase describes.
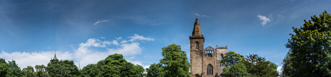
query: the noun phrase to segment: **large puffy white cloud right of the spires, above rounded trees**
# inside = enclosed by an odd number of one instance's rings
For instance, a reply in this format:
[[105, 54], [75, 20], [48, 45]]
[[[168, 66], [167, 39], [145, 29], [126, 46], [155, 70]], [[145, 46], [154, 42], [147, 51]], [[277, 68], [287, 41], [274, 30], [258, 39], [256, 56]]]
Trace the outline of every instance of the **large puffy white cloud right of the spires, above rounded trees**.
[[[139, 35], [135, 35], [139, 36]], [[132, 37], [135, 37], [132, 36]], [[152, 38], [149, 38], [152, 39]], [[118, 41], [121, 41], [121, 43], [118, 43]], [[140, 47], [140, 43], [136, 41], [131, 42], [122, 42], [121, 37], [114, 39], [112, 42], [109, 41], [103, 41], [101, 42], [99, 39], [89, 39], [85, 43], [81, 43], [77, 49], [74, 50], [74, 58], [76, 62], [79, 62], [81, 67], [87, 65], [87, 64], [96, 64], [98, 61], [103, 60], [107, 58], [109, 55], [112, 54], [122, 54], [124, 56], [124, 59], [128, 62], [131, 62], [132, 64], [139, 64], [142, 65], [140, 61], [133, 61], [134, 55], [141, 54], [142, 48]], [[107, 43], [104, 43], [107, 42]], [[101, 43], [101, 44], [97, 44]], [[118, 47], [116, 48], [104, 48], [106, 51], [99, 51], [94, 49], [94, 45], [97, 44], [95, 47], [102, 47], [102, 45], [108, 45], [108, 44], [114, 44]], [[93, 48], [91, 48], [93, 47]], [[142, 65], [143, 66], [143, 65]]]

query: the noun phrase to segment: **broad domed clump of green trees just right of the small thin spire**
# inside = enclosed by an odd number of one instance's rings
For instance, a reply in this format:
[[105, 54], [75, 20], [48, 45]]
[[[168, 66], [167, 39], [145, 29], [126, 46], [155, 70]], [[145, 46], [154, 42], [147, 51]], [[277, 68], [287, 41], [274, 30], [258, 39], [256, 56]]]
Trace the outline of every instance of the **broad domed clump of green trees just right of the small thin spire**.
[[88, 64], [81, 70], [82, 77], [143, 77], [145, 69], [127, 62], [123, 55], [109, 55], [97, 64]]

